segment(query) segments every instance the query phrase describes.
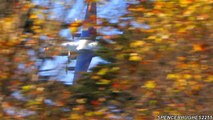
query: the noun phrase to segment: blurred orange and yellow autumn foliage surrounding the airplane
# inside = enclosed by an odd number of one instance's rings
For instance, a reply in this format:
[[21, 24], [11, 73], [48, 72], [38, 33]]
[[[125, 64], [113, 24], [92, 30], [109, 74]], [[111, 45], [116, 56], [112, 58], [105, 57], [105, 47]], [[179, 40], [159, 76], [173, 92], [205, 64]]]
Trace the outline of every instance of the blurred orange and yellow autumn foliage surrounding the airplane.
[[[39, 80], [35, 67], [37, 58], [62, 51], [63, 40], [57, 34], [62, 23], [48, 19], [42, 12], [48, 8], [24, 2], [14, 14], [0, 18], [0, 118], [152, 120], [159, 115], [212, 115], [213, 1], [136, 1], [119, 23], [99, 19], [97, 28], [108, 26], [124, 33], [99, 34], [114, 41], [100, 40], [96, 52], [109, 63], [84, 73], [72, 86]], [[28, 29], [33, 32], [26, 34], [18, 25], [31, 8], [28, 19], [33, 24]], [[72, 27], [83, 24], [69, 27], [76, 32]], [[49, 41], [42, 41], [42, 35]], [[44, 53], [39, 52], [42, 47]], [[35, 59], [28, 50], [35, 51]], [[25, 68], [19, 69], [20, 64]], [[17, 91], [23, 98], [12, 96]], [[16, 114], [8, 114], [7, 109]], [[18, 112], [23, 110], [32, 114]]]

